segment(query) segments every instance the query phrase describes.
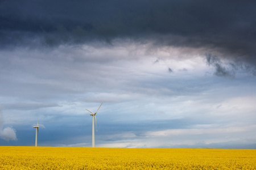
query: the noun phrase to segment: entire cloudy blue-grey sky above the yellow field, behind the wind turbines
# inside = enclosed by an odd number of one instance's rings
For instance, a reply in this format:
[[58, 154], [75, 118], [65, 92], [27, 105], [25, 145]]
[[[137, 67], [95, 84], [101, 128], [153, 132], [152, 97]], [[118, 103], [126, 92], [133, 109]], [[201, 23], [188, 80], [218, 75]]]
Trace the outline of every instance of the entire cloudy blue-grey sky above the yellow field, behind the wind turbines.
[[255, 6], [0, 0], [0, 145], [255, 149]]

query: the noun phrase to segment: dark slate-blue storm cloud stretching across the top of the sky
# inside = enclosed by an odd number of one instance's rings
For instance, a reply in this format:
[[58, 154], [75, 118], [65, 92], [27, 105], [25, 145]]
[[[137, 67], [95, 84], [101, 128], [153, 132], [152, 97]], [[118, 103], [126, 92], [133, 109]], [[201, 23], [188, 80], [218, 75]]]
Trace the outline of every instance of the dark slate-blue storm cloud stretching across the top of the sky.
[[255, 1], [0, 1], [0, 44], [150, 40], [214, 49], [255, 65], [255, 6]]

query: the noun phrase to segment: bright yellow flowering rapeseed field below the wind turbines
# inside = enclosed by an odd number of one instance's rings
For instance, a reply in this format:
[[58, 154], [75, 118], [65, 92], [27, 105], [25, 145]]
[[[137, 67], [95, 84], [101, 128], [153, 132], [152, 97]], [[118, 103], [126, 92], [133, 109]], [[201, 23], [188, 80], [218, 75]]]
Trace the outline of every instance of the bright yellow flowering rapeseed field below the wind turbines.
[[256, 150], [0, 146], [0, 169], [256, 169]]

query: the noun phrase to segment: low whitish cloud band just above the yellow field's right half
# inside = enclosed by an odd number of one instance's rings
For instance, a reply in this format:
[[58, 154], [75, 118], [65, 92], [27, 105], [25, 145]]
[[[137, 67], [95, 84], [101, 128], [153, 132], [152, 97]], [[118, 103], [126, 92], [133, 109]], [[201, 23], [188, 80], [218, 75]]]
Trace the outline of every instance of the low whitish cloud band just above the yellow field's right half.
[[[232, 147], [231, 141], [240, 141], [240, 143], [255, 144], [256, 137], [253, 135], [256, 130], [255, 125], [251, 126], [232, 126], [227, 128], [205, 128], [205, 129], [167, 129], [161, 131], [147, 131], [144, 133], [144, 139], [154, 142], [156, 147], [168, 146], [189, 146], [207, 147], [207, 145], [216, 145], [216, 143], [226, 143], [226, 147]], [[142, 135], [142, 136], [143, 136]], [[155, 138], [159, 143], [156, 143]], [[249, 142], [251, 141], [251, 142]], [[200, 144], [201, 143], [201, 144]]]

